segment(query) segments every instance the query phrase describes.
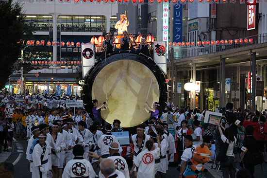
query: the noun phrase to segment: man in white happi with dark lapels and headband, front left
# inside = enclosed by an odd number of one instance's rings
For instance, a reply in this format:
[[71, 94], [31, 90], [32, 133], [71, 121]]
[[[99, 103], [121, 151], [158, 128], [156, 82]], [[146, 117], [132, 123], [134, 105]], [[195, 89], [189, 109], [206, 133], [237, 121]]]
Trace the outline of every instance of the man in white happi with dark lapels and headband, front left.
[[34, 178], [47, 178], [49, 171], [49, 157], [51, 147], [46, 142], [46, 134], [39, 135], [39, 143], [33, 149], [33, 175]]

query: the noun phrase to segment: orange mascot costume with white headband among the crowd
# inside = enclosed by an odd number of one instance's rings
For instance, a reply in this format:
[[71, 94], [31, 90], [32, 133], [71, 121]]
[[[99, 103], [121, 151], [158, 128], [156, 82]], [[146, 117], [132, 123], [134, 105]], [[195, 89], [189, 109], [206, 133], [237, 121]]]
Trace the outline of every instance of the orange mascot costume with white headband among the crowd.
[[191, 165], [191, 170], [197, 174], [202, 172], [208, 172], [207, 169], [202, 167], [202, 165], [210, 159], [210, 155], [213, 153], [209, 150], [204, 143], [200, 144], [193, 153], [193, 159], [188, 162], [188, 165]]

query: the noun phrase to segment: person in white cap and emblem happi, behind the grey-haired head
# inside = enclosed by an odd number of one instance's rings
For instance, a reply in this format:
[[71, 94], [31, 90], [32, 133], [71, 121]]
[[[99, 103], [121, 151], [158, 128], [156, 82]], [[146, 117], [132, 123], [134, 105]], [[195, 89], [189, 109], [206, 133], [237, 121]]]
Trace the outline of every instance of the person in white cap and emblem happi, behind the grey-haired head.
[[[123, 173], [125, 178], [130, 178], [128, 164], [126, 160], [119, 155], [118, 151], [119, 151], [119, 145], [115, 142], [110, 143], [109, 144], [110, 157], [108, 157], [108, 159], [114, 161], [116, 169], [119, 170], [121, 173]], [[89, 157], [99, 160], [100, 162], [103, 161], [103, 159], [94, 152], [89, 152]], [[105, 178], [101, 172], [99, 173], [99, 177]]]

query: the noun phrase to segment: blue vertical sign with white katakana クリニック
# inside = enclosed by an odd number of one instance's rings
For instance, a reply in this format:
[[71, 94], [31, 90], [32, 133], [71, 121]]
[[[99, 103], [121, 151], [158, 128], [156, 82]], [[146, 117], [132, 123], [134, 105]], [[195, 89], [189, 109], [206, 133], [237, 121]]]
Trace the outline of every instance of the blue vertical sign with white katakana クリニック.
[[175, 3], [173, 7], [173, 41], [182, 41], [183, 35], [183, 5], [180, 2]]

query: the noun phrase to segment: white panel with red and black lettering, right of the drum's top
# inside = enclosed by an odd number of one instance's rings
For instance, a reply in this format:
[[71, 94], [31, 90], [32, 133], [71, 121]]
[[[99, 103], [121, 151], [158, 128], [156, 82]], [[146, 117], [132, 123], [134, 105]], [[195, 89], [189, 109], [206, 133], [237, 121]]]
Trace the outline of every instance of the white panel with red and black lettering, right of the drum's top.
[[154, 49], [154, 61], [166, 74], [167, 73], [166, 41], [154, 41], [153, 49]]

